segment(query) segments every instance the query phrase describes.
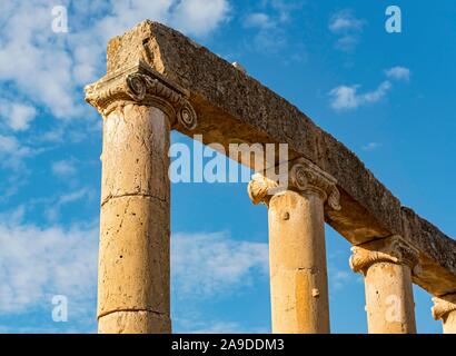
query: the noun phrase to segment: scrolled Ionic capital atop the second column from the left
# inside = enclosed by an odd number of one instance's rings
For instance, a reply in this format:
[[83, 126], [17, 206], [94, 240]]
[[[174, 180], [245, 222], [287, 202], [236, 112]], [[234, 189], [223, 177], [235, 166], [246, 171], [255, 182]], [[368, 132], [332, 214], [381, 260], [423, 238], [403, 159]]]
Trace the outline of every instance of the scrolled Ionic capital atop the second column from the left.
[[[300, 194], [318, 194], [331, 209], [340, 210], [340, 194], [334, 177], [305, 158], [298, 158], [282, 165], [287, 165], [286, 177], [275, 176], [276, 170], [282, 171], [280, 167], [270, 168], [265, 170], [262, 175], [252, 176], [248, 194], [254, 204], [267, 204], [275, 194], [295, 190]], [[274, 177], [274, 179], [269, 177]]]

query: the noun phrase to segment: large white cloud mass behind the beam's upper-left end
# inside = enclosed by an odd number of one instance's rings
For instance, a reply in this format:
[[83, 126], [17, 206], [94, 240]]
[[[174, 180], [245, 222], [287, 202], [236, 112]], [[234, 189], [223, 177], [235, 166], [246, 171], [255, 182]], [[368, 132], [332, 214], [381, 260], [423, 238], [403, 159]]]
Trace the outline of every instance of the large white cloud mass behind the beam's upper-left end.
[[[62, 0], [69, 6], [69, 0]], [[51, 29], [46, 0], [8, 1], [0, 22], [0, 86], [10, 83], [36, 106], [60, 119], [87, 118], [81, 87], [103, 73], [107, 40], [146, 18], [206, 36], [228, 16], [228, 0], [71, 1], [69, 33]], [[30, 118], [26, 116], [26, 118]], [[27, 120], [16, 121], [18, 129]]]

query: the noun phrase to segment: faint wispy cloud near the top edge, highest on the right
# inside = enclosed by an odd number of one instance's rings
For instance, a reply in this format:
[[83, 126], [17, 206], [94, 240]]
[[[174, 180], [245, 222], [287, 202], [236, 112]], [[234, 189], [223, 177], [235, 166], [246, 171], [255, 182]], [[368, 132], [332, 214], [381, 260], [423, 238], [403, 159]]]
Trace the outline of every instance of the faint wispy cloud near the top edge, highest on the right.
[[328, 28], [337, 36], [336, 48], [351, 51], [358, 44], [365, 26], [366, 21], [356, 18], [353, 10], [344, 9], [330, 17]]

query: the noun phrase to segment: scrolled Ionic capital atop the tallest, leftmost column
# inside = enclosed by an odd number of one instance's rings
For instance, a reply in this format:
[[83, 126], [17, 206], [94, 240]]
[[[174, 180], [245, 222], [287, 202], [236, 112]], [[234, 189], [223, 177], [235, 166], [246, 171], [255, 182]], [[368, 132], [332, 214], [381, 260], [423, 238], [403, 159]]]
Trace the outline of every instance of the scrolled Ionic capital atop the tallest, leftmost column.
[[172, 126], [179, 125], [187, 130], [197, 126], [197, 113], [188, 101], [188, 91], [169, 82], [142, 61], [103, 77], [87, 86], [85, 91], [86, 101], [103, 117], [119, 106], [133, 102], [160, 108]]

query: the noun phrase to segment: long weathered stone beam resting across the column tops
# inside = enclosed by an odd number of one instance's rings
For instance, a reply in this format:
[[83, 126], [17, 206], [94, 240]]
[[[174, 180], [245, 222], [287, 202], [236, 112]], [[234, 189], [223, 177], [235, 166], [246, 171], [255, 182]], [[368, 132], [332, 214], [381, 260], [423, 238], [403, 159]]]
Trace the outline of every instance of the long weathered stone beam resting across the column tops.
[[[190, 91], [205, 144], [286, 142], [337, 179], [339, 211], [325, 218], [351, 244], [400, 235], [419, 249], [414, 281], [440, 296], [456, 291], [456, 241], [400, 206], [343, 144], [257, 80], [162, 24], [143, 21], [108, 46], [108, 75], [139, 60]], [[186, 128], [179, 128], [190, 135]], [[249, 164], [249, 162], [242, 162]]]

